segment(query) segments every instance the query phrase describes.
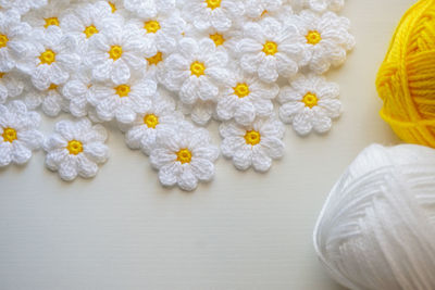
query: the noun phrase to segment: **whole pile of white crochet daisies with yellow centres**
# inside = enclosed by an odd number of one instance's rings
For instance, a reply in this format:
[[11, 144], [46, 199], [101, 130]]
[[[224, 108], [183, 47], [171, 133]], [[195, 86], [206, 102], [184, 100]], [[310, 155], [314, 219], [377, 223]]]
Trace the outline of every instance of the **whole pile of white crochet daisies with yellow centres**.
[[[220, 150], [204, 127], [215, 119], [222, 154], [266, 172], [283, 155], [284, 123], [307, 135], [339, 116], [338, 86], [321, 75], [355, 45], [343, 5], [0, 0], [0, 166], [44, 148], [62, 179], [92, 177], [114, 121], [162, 185], [194, 190], [214, 175]], [[74, 119], [44, 138], [39, 108]]]

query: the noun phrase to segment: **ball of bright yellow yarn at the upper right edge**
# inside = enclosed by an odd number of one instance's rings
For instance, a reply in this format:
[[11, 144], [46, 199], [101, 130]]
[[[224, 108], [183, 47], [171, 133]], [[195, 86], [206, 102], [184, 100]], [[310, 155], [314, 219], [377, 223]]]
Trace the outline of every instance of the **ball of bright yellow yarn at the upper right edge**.
[[381, 116], [400, 139], [435, 148], [435, 0], [403, 15], [377, 73]]

